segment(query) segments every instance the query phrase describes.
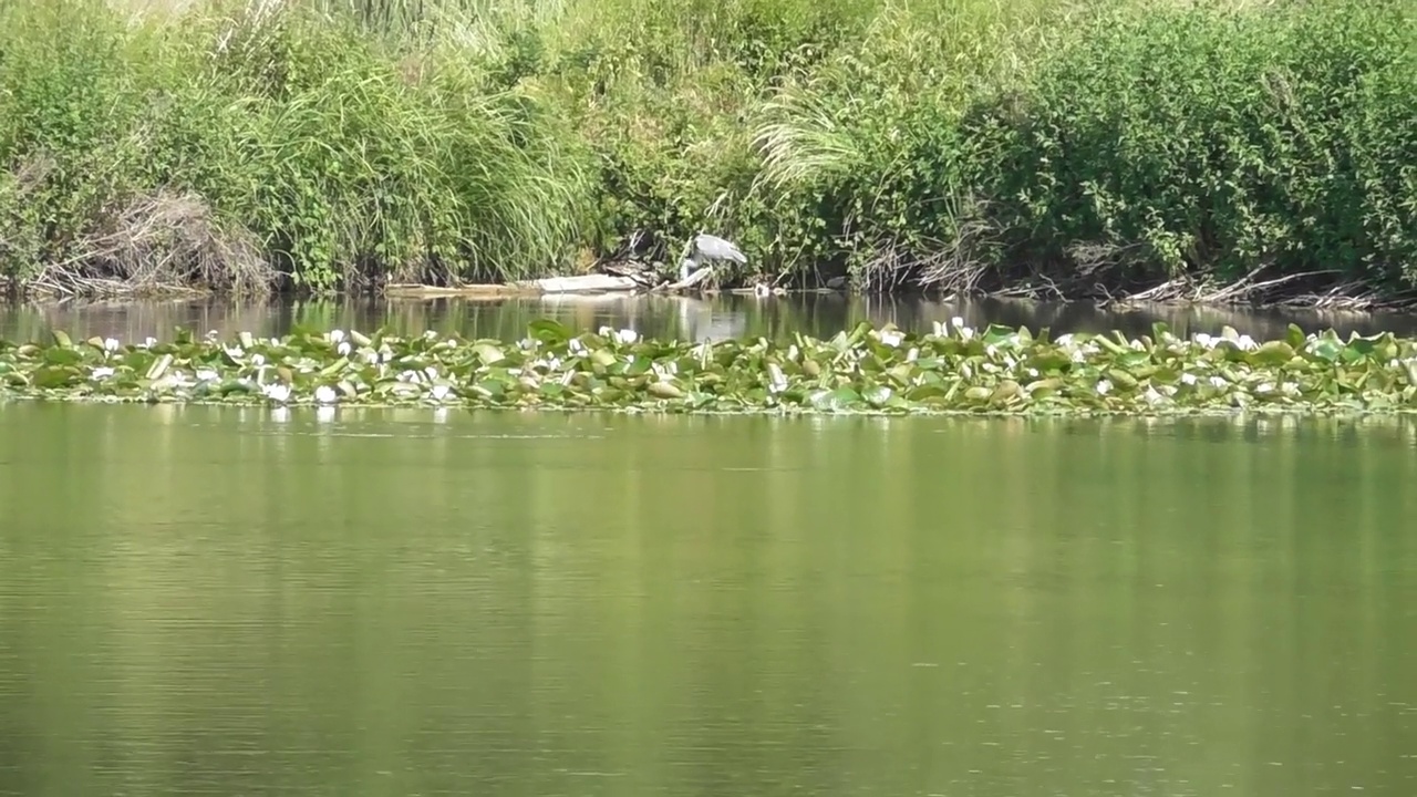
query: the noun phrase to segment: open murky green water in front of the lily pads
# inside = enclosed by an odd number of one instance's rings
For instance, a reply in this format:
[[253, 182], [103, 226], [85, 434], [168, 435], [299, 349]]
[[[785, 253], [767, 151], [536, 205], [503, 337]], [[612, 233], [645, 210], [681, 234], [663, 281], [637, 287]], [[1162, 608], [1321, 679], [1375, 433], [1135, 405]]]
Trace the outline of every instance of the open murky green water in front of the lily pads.
[[0, 406], [0, 794], [1417, 794], [1417, 424]]

